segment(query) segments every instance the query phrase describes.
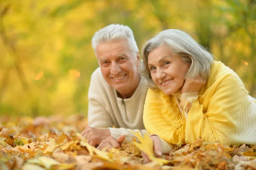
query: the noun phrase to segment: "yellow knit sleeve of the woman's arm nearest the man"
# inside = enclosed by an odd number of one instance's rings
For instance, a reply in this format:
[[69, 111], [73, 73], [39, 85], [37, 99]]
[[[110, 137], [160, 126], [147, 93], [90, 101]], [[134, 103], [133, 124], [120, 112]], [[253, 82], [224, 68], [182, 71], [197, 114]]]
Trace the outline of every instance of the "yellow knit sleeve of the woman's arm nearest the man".
[[[179, 134], [174, 124], [180, 121], [180, 116], [173, 96], [165, 95], [160, 89], [148, 89], [143, 111], [143, 123], [148, 133], [156, 134], [170, 144], [177, 144]], [[165, 142], [162, 144], [167, 146]], [[169, 150], [167, 148], [166, 152]]]

